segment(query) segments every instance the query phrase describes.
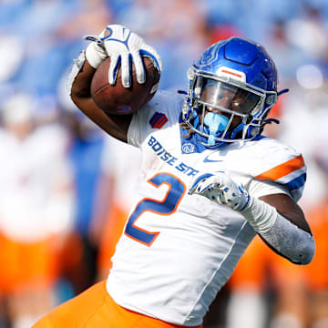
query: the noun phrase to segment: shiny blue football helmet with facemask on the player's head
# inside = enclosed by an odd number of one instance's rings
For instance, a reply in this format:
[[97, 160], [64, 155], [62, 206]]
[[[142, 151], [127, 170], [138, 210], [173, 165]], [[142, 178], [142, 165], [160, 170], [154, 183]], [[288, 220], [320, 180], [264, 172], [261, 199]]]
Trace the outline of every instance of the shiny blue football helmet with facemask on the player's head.
[[265, 49], [240, 37], [210, 46], [188, 72], [182, 118], [212, 149], [261, 134], [277, 102], [277, 70]]

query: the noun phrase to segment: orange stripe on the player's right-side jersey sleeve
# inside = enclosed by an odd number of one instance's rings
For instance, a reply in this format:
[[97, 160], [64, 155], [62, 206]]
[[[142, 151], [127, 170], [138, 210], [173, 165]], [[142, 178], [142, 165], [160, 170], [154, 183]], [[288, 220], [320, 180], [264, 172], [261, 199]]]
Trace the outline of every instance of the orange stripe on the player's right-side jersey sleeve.
[[269, 169], [258, 176], [256, 176], [256, 179], [266, 180], [277, 180], [281, 179], [282, 177], [286, 176], [287, 174], [292, 173], [293, 171], [297, 169], [302, 169], [302, 167], [305, 165], [304, 160], [302, 159], [302, 155], [290, 159], [281, 165], [276, 166], [273, 169]]

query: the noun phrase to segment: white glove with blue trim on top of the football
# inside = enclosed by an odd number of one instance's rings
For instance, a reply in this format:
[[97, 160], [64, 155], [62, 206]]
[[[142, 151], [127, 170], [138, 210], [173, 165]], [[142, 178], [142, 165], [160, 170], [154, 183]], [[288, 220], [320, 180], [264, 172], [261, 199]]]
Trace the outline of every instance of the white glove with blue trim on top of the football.
[[147, 45], [140, 36], [131, 32], [125, 26], [110, 25], [99, 36], [85, 36], [85, 39], [92, 41], [86, 50], [87, 61], [92, 67], [97, 68], [107, 56], [110, 56], [108, 70], [108, 82], [110, 85], [115, 85], [118, 68], [121, 66], [122, 85], [124, 87], [130, 86], [131, 59], [136, 68], [138, 83], [144, 83], [146, 81], [146, 73], [141, 56], [152, 58], [159, 72], [161, 72], [161, 59], [156, 50], [152, 46]]

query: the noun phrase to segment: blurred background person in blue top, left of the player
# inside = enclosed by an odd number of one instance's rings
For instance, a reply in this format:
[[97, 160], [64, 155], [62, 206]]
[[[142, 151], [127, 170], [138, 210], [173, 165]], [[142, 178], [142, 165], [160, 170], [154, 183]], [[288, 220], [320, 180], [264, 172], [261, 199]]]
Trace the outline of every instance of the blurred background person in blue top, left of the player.
[[73, 107], [62, 119], [70, 133], [68, 159], [72, 164], [76, 194], [75, 235], [71, 250], [77, 261], [65, 272], [75, 294], [97, 279], [97, 253], [104, 221], [112, 202], [113, 185], [102, 168], [104, 135]]

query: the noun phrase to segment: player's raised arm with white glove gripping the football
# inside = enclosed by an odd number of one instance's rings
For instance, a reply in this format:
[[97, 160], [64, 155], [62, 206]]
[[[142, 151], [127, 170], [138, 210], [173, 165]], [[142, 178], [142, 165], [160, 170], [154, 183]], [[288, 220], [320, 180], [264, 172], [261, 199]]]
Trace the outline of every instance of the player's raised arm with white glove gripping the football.
[[131, 65], [136, 69], [138, 83], [146, 80], [145, 68], [141, 56], [146, 55], [153, 59], [159, 72], [161, 60], [158, 53], [143, 39], [132, 33], [127, 27], [119, 25], [107, 26], [99, 36], [86, 36], [91, 41], [86, 51], [75, 61], [68, 85], [70, 96], [74, 103], [88, 118], [95, 122], [109, 135], [127, 142], [128, 126], [132, 115], [108, 115], [94, 103], [90, 94], [90, 85], [97, 67], [109, 56], [108, 82], [116, 83], [118, 68], [121, 67], [122, 85], [130, 86]]

